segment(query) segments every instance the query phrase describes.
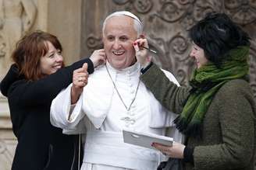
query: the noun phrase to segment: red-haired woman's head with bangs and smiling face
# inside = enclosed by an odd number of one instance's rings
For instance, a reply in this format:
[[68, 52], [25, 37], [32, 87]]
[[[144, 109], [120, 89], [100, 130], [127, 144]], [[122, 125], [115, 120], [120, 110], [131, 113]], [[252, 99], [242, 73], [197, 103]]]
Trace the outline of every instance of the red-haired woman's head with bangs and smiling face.
[[37, 31], [24, 36], [12, 53], [12, 60], [25, 78], [38, 80], [64, 66], [62, 45], [56, 36]]

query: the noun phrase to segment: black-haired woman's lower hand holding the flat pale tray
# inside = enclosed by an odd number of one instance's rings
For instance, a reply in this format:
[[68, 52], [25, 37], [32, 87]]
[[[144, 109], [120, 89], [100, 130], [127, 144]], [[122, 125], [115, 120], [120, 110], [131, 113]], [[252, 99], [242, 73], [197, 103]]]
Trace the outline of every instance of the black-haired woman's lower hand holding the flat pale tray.
[[155, 147], [156, 149], [161, 151], [163, 154], [168, 155], [170, 158], [184, 158], [183, 157], [183, 152], [185, 149], [184, 144], [173, 142], [172, 147], [169, 147], [162, 144], [153, 143], [152, 147]]

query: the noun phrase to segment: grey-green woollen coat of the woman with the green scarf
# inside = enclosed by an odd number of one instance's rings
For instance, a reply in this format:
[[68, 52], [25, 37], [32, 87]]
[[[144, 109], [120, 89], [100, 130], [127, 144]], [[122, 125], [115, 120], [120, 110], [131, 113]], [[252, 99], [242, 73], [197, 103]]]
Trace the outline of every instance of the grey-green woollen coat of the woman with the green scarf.
[[[153, 64], [141, 75], [144, 85], [165, 108], [181, 113], [190, 88], [177, 87]], [[226, 82], [212, 99], [203, 120], [202, 138], [187, 137], [194, 164], [186, 170], [253, 170], [256, 106], [248, 82]]]

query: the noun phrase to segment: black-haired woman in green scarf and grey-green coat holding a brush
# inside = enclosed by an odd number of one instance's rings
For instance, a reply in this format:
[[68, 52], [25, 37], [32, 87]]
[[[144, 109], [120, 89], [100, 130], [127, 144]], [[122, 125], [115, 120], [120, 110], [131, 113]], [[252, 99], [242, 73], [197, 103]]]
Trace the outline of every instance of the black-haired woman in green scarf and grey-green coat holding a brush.
[[170, 82], [148, 61], [148, 52], [140, 49], [148, 47], [147, 40], [134, 46], [144, 66], [141, 81], [163, 106], [179, 114], [174, 123], [186, 136], [185, 145], [152, 145], [182, 159], [186, 170], [253, 170], [256, 107], [247, 82], [249, 37], [222, 13], [208, 14], [189, 35], [190, 57], [197, 64], [189, 88]]

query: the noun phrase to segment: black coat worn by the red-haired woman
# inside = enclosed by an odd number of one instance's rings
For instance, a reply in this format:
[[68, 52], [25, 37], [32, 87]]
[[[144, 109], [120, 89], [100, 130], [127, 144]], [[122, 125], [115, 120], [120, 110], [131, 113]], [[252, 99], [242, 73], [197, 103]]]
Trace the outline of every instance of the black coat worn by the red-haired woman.
[[12, 170], [77, 169], [77, 135], [62, 134], [62, 129], [52, 126], [50, 107], [52, 99], [72, 82], [73, 71], [84, 62], [92, 73], [91, 60], [84, 59], [38, 81], [18, 76], [14, 65], [9, 69], [1, 92], [8, 97], [12, 130], [18, 139]]

